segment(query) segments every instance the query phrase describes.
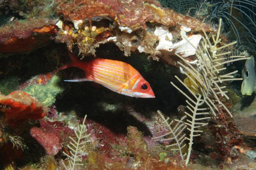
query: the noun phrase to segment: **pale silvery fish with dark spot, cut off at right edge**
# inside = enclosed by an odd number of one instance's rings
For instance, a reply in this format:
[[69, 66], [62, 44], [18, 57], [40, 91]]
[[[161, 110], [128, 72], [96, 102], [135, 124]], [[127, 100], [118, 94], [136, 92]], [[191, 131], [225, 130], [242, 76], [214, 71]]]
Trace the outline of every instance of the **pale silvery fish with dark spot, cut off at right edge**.
[[256, 88], [256, 74], [254, 69], [254, 57], [247, 59], [242, 71], [243, 82], [241, 85], [242, 95], [252, 95]]

